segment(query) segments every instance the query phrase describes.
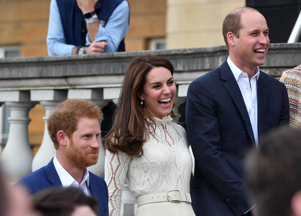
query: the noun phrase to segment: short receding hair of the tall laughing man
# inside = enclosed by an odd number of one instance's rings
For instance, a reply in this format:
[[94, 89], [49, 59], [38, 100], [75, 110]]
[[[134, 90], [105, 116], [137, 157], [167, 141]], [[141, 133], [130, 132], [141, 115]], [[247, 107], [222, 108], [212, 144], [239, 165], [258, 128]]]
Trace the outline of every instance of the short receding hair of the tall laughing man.
[[241, 14], [243, 14], [246, 11], [259, 12], [258, 10], [249, 7], [236, 8], [234, 11], [228, 13], [223, 21], [223, 36], [228, 49], [229, 49], [229, 45], [227, 40], [227, 34], [228, 32], [232, 32], [237, 38], [239, 38], [239, 30], [242, 28], [240, 17]]

